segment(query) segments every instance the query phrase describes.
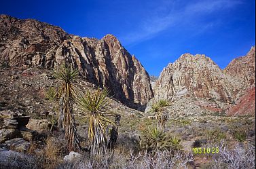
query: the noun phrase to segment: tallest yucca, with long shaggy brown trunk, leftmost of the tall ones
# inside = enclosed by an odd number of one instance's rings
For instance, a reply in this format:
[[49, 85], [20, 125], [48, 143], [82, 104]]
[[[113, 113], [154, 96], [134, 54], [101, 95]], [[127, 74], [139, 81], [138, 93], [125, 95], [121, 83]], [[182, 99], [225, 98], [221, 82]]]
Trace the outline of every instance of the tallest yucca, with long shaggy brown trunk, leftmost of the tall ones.
[[61, 64], [53, 73], [54, 77], [62, 82], [56, 94], [59, 107], [58, 127], [65, 131], [65, 139], [68, 142], [69, 151], [80, 149], [79, 136], [73, 115], [73, 103], [76, 96], [74, 80], [78, 73], [77, 70], [73, 70], [66, 64]]

